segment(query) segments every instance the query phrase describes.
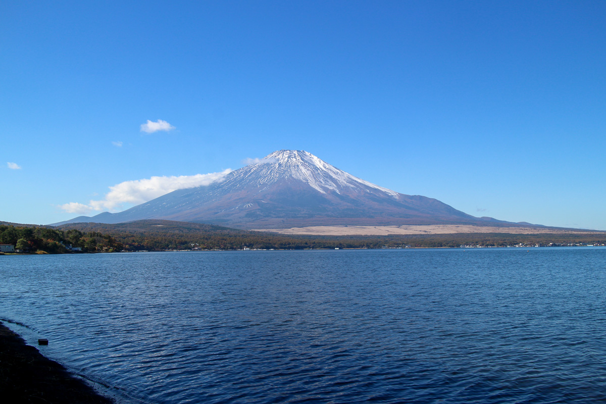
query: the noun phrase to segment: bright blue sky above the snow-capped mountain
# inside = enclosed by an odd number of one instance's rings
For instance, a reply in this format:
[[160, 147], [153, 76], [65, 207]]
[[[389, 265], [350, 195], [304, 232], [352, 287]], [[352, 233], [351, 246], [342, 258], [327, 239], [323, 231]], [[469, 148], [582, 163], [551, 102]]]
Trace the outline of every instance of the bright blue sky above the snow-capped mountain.
[[296, 149], [474, 216], [606, 230], [605, 21], [604, 1], [2, 2], [0, 220]]

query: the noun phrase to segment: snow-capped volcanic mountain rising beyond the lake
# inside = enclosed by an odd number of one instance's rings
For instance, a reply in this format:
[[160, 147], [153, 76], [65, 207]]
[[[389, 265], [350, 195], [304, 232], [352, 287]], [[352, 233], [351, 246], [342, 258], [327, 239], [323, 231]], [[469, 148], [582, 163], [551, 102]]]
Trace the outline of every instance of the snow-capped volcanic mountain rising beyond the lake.
[[514, 225], [474, 217], [437, 199], [405, 195], [359, 179], [307, 151], [280, 150], [220, 182], [176, 190], [119, 213], [55, 225], [179, 220], [241, 229], [318, 225]]

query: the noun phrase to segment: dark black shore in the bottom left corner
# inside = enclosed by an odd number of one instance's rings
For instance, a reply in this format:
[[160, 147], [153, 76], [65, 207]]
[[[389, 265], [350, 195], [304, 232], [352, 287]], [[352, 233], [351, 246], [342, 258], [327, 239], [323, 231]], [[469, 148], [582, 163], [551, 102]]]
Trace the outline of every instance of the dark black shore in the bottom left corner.
[[6, 403], [110, 404], [0, 322], [0, 392]]

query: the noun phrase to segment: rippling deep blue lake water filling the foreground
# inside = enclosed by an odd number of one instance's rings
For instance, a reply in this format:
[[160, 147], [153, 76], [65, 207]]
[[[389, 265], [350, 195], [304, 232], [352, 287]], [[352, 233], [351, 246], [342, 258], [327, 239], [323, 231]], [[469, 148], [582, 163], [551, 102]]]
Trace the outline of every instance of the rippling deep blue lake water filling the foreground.
[[0, 257], [0, 318], [143, 403], [606, 401], [606, 249]]

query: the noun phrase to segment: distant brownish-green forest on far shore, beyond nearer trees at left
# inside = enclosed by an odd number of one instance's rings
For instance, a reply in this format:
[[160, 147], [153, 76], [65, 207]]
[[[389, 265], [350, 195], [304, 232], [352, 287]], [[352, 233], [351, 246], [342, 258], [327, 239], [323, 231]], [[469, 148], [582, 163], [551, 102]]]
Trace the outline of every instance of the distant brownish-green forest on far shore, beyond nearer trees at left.
[[[101, 231], [112, 234], [127, 251], [148, 250], [305, 250], [321, 248], [448, 248], [460, 245], [506, 247], [518, 243], [605, 243], [606, 233], [510, 234], [458, 233], [392, 236], [293, 236], [260, 231], [238, 230], [209, 224], [171, 220], [138, 220], [121, 224], [81, 223], [62, 228]], [[496, 231], [499, 228], [495, 228]]]

